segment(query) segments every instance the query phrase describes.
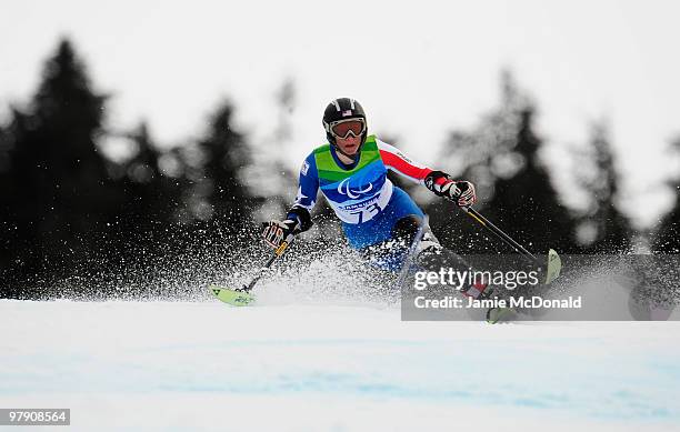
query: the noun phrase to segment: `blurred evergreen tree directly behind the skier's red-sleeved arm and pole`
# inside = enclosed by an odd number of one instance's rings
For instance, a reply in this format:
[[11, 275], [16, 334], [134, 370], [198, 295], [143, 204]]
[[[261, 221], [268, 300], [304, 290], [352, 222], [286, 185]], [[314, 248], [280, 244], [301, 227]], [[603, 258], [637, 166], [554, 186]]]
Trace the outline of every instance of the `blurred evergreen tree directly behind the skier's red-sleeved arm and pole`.
[[[543, 141], [534, 132], [534, 104], [509, 72], [502, 74], [501, 94], [500, 107], [473, 131], [450, 134], [441, 167], [472, 181], [479, 197], [476, 207], [529, 250], [573, 252], [574, 222], [540, 159]], [[508, 251], [452, 203], [432, 201], [428, 212], [440, 240], [458, 252]]]

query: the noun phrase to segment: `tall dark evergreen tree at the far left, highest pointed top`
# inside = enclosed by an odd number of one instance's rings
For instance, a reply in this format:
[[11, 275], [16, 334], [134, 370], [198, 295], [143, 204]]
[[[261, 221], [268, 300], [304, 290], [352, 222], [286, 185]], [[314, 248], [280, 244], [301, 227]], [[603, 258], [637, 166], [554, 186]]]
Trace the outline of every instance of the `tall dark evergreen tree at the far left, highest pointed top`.
[[7, 221], [16, 281], [68, 268], [94, 247], [116, 202], [96, 141], [106, 97], [97, 94], [71, 43], [62, 40], [44, 66], [26, 112], [10, 127]]

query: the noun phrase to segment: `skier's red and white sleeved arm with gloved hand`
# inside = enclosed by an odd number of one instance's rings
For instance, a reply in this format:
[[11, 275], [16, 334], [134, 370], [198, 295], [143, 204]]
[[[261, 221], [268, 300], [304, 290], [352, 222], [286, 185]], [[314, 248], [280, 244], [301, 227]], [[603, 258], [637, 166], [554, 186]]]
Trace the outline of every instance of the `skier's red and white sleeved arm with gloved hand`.
[[386, 167], [407, 179], [424, 184], [438, 197], [451, 199], [461, 207], [472, 205], [477, 201], [474, 185], [464, 180], [453, 180], [442, 171], [432, 170], [410, 160], [394, 147], [377, 140], [380, 157]]

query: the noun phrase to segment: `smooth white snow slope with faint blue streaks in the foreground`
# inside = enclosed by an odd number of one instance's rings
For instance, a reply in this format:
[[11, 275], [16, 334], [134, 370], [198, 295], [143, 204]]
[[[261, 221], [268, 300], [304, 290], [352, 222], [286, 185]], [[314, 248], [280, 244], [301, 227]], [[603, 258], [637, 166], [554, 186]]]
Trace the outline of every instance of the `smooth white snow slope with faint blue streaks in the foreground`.
[[0, 406], [73, 431], [678, 430], [679, 322], [0, 300]]

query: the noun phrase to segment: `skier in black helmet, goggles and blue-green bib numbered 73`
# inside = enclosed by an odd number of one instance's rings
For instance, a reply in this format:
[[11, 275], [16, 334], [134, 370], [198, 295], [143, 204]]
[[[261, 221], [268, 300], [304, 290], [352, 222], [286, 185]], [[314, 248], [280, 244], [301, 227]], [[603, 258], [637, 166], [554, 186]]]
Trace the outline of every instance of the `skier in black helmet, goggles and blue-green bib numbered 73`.
[[[312, 227], [311, 210], [318, 190], [342, 221], [349, 244], [363, 252], [372, 263], [399, 270], [424, 213], [413, 200], [388, 178], [392, 170], [406, 179], [423, 184], [438, 197], [458, 205], [472, 205], [474, 185], [453, 180], [449, 174], [413, 162], [394, 147], [368, 133], [366, 112], [354, 99], [331, 101], [323, 112], [328, 143], [314, 149], [302, 162], [296, 202], [284, 220], [264, 222], [263, 238], [274, 249], [289, 234]], [[457, 257], [443, 250], [429, 227], [417, 250], [420, 265], [439, 270], [444, 261]], [[461, 263], [458, 261], [458, 263]], [[471, 287], [477, 297], [483, 287]], [[479, 292], [478, 292], [479, 291]]]

